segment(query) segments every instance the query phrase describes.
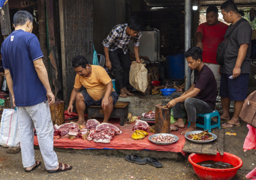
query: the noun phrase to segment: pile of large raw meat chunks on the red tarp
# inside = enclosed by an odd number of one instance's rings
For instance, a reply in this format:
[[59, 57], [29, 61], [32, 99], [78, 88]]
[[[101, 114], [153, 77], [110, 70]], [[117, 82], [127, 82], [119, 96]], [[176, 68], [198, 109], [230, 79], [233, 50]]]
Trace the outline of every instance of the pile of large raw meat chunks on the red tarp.
[[60, 126], [54, 125], [53, 138], [65, 138], [69, 137], [71, 140], [76, 138], [82, 138], [87, 140], [93, 140], [94, 142], [110, 142], [115, 134], [121, 134], [122, 131], [113, 124], [100, 123], [96, 119], [89, 119], [86, 125], [79, 125], [74, 122], [61, 124]]

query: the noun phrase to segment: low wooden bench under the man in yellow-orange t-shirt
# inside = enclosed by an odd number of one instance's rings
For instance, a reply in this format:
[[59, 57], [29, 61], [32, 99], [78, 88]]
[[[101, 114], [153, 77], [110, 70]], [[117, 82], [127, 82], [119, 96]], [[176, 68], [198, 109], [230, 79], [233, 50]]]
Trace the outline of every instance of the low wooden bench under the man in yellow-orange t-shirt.
[[[124, 125], [124, 119], [128, 115], [128, 105], [130, 102], [120, 102], [117, 101], [114, 105], [113, 111], [110, 115], [110, 118], [120, 118], [120, 125]], [[104, 117], [103, 109], [101, 106], [88, 106], [88, 119]]]

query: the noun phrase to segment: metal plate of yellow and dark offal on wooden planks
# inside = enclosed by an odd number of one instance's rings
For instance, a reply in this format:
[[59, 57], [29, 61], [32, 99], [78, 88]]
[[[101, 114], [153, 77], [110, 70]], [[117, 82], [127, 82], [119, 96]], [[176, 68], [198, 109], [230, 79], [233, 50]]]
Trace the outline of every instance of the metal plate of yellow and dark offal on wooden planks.
[[197, 143], [208, 143], [217, 139], [217, 135], [214, 133], [208, 132], [208, 130], [205, 130], [205, 131], [196, 130], [196, 131], [190, 131], [185, 133], [185, 138]]

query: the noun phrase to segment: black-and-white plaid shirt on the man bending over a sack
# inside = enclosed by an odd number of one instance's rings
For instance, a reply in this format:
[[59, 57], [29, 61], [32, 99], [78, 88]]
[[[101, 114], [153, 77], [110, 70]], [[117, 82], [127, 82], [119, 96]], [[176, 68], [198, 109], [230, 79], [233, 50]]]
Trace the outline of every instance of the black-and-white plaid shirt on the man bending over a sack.
[[129, 49], [127, 44], [134, 40], [134, 46], [137, 47], [140, 44], [141, 32], [136, 37], [132, 38], [126, 34], [127, 24], [116, 25], [106, 39], [103, 40], [102, 44], [104, 47], [109, 48], [109, 51], [114, 51], [118, 48], [122, 49], [123, 53], [126, 54]]

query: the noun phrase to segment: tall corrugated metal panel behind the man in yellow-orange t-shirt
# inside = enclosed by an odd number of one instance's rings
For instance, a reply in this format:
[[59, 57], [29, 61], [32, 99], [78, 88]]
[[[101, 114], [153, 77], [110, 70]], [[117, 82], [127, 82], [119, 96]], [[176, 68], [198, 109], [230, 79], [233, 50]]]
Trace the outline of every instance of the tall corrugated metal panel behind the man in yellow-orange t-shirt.
[[62, 0], [62, 9], [66, 65], [66, 82], [63, 82], [66, 83], [66, 88], [63, 91], [66, 91], [64, 100], [67, 107], [76, 77], [72, 59], [82, 55], [89, 64], [92, 64], [93, 60], [93, 1]]

